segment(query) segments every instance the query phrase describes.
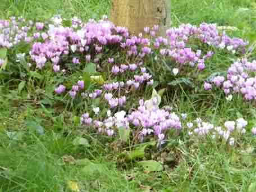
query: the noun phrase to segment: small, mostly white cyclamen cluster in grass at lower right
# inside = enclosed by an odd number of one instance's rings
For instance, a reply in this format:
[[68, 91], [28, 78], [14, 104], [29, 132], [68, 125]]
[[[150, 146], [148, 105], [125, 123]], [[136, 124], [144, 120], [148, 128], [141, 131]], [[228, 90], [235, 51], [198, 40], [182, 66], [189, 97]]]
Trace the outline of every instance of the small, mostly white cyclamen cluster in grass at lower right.
[[[203, 122], [200, 118], [196, 118], [195, 125], [193, 122], [188, 122], [186, 125], [189, 129], [188, 134], [191, 135], [211, 135], [213, 139], [224, 139], [230, 145], [234, 145], [235, 136], [245, 134], [245, 127], [248, 124], [244, 118], [238, 118], [236, 121], [226, 121], [224, 127], [214, 126], [209, 122]], [[252, 129], [252, 134], [256, 134], [255, 128]]]

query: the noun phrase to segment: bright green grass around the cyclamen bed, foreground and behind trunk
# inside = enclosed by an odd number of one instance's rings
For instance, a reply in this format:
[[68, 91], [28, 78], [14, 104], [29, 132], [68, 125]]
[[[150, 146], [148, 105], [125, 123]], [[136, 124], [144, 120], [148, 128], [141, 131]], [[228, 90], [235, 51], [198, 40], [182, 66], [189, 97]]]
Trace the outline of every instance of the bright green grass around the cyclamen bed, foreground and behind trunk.
[[[43, 20], [61, 14], [98, 19], [109, 12], [110, 5], [110, 0], [2, 0], [0, 16], [23, 15]], [[237, 26], [237, 35], [253, 40], [255, 8], [249, 0], [172, 0], [172, 22]], [[230, 62], [218, 53], [208, 63], [209, 74], [227, 68]], [[177, 95], [166, 98], [167, 104], [193, 117], [203, 116], [220, 123], [243, 116], [249, 127], [256, 122], [254, 106], [240, 97], [228, 102], [221, 92], [213, 95], [181, 91]], [[156, 154], [159, 161], [165, 155], [171, 158], [164, 171], [147, 173], [136, 162], [125, 162], [118, 156], [120, 151], [102, 138], [75, 126], [75, 115], [67, 110], [42, 108], [16, 97], [0, 84], [0, 191], [70, 191], [68, 181], [77, 182], [80, 191], [256, 191], [255, 152], [244, 152], [256, 146], [249, 129], [237, 149], [218, 145], [209, 138], [190, 143], [184, 135], [170, 146], [172, 153]], [[38, 122], [45, 134], [28, 130], [27, 121]], [[21, 135], [8, 137], [6, 131], [18, 131]], [[88, 139], [90, 147], [74, 146], [77, 135]], [[70, 161], [63, 161], [67, 156], [72, 157]]]

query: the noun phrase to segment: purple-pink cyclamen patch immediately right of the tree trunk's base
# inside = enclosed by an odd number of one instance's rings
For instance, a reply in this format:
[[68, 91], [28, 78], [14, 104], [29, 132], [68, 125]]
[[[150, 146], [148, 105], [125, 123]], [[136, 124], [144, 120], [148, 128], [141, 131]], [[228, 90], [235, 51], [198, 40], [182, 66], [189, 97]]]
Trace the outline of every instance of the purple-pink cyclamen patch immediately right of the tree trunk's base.
[[[146, 29], [146, 31], [148, 31]], [[148, 31], [149, 32], [149, 31]], [[166, 31], [169, 42], [166, 39], [159, 37], [156, 38], [154, 47], [158, 48], [161, 43], [170, 45], [170, 48], [162, 48], [160, 54], [173, 58], [177, 63], [189, 63], [190, 66], [197, 64], [198, 70], [205, 68], [205, 59], [211, 58], [213, 52], [209, 51], [207, 54], [202, 55], [202, 51], [198, 49], [196, 52], [189, 46], [190, 39], [199, 39], [203, 43], [213, 45], [216, 48], [224, 49], [235, 53], [236, 51], [244, 52], [245, 46], [248, 42], [243, 39], [230, 38], [217, 30], [214, 24], [201, 24], [198, 27], [190, 24], [182, 24], [179, 28], [171, 28]]]

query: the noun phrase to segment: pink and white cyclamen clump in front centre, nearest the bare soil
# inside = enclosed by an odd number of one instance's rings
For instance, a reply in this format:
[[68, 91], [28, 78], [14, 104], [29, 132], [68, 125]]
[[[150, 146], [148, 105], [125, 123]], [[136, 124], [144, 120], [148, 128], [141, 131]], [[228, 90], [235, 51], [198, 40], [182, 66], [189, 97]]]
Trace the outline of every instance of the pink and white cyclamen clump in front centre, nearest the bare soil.
[[117, 134], [118, 129], [124, 128], [135, 131], [140, 140], [153, 135], [159, 141], [164, 140], [169, 129], [181, 129], [180, 118], [175, 113], [158, 108], [156, 102], [149, 105], [149, 102], [151, 101], [144, 102], [141, 99], [140, 106], [129, 114], [120, 111], [111, 115], [111, 111], [108, 111], [107, 117], [103, 121], [93, 120], [88, 113], [85, 113], [81, 116], [81, 124], [93, 126], [99, 133], [109, 136]]

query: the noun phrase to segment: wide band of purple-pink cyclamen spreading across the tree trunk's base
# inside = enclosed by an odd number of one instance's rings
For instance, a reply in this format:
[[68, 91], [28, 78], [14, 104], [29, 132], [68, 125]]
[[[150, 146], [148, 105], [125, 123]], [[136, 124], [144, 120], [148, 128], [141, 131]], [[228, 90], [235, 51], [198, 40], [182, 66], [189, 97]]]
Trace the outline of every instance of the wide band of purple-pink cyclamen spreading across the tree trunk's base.
[[[57, 20], [57, 21], [56, 21]], [[190, 39], [199, 39], [203, 43], [217, 48], [226, 48], [228, 51], [243, 51], [248, 44], [242, 39], [230, 38], [225, 32], [220, 33], [216, 25], [201, 24], [199, 27], [182, 24], [179, 28], [171, 28], [166, 31], [167, 38], [156, 37], [158, 26], [145, 28], [145, 33], [152, 36], [143, 38], [142, 34], [130, 36], [126, 28], [115, 26], [106, 18], [98, 22], [90, 20], [83, 23], [79, 19], [72, 19], [71, 28], [61, 25], [61, 18], [54, 18], [54, 25], [49, 25], [47, 33], [38, 33], [40, 42], [33, 44], [30, 55], [38, 68], [42, 68], [45, 62], [51, 61], [53, 65], [60, 65], [63, 54], [79, 53], [80, 58], [72, 58], [73, 63], [81, 61], [98, 62], [98, 53], [104, 51], [104, 46], [115, 44], [115, 48], [126, 50], [128, 56], [145, 57], [156, 52], [175, 60], [177, 63], [197, 64], [199, 70], [205, 67], [205, 59], [212, 56], [213, 52], [203, 55], [200, 49], [193, 51], [189, 45]], [[39, 24], [38, 24], [39, 25]], [[43, 40], [43, 43], [41, 41]], [[54, 71], [60, 71], [60, 67], [54, 67]]]

